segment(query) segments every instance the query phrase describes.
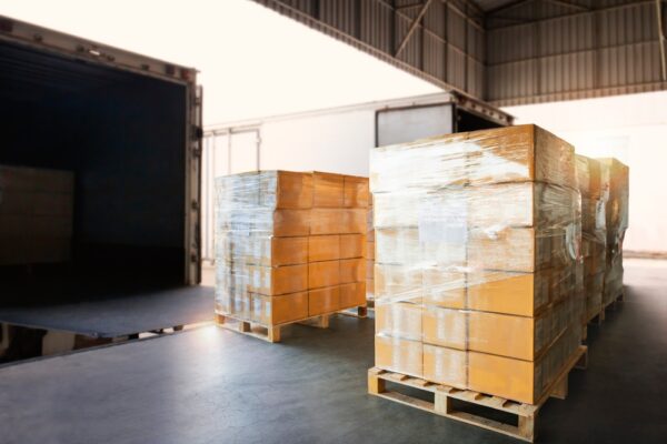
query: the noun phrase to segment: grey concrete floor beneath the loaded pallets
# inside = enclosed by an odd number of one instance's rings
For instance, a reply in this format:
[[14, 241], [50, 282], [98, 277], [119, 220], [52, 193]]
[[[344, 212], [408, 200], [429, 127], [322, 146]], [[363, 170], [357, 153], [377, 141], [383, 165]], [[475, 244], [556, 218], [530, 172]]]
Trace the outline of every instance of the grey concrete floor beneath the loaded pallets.
[[[541, 443], [667, 442], [667, 266], [628, 261]], [[268, 344], [215, 326], [0, 369], [2, 443], [510, 443], [366, 394], [372, 320]]]

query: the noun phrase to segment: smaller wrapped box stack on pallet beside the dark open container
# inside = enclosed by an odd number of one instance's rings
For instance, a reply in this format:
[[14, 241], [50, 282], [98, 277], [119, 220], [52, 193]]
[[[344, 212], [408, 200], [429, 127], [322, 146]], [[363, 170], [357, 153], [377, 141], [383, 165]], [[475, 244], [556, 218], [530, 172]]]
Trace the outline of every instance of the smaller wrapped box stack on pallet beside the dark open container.
[[272, 326], [366, 305], [367, 206], [366, 178], [218, 178], [217, 313]]

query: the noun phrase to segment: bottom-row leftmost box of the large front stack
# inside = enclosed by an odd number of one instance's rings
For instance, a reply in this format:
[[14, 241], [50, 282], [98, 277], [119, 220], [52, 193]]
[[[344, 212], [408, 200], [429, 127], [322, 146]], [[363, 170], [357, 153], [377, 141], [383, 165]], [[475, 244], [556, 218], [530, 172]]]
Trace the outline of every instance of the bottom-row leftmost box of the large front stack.
[[411, 376], [424, 376], [421, 342], [376, 335], [376, 366]]

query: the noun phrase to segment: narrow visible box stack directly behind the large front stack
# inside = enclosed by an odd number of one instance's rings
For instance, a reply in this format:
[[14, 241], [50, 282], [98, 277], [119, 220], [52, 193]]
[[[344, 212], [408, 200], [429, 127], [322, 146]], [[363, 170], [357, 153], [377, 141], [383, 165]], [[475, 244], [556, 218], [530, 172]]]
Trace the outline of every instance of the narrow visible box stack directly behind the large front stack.
[[577, 183], [581, 193], [583, 321], [586, 324], [603, 307], [605, 283], [607, 233], [600, 162], [577, 155]]

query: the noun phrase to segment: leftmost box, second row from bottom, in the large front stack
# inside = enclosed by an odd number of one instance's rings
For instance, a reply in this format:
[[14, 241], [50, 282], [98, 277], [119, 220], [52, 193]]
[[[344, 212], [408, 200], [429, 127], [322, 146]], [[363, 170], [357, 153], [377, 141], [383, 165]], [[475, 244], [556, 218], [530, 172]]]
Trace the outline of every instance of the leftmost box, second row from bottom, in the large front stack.
[[385, 336], [421, 341], [422, 307], [411, 303], [378, 303], [376, 333]]

